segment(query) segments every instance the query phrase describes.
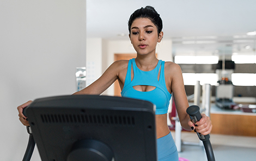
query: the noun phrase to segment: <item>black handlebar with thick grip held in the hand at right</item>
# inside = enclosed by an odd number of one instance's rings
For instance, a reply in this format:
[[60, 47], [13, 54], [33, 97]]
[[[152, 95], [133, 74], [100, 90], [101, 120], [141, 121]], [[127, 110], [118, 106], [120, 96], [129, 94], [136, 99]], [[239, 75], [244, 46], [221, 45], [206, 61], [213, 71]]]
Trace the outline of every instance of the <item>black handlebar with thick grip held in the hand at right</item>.
[[[200, 119], [202, 119], [202, 115], [200, 114], [200, 108], [198, 106], [190, 106], [187, 108], [187, 114], [190, 115], [190, 118], [194, 124], [197, 123]], [[209, 161], [215, 161], [214, 151], [212, 150], [211, 142], [210, 142], [210, 135], [207, 134], [206, 136], [197, 132], [197, 135], [200, 140], [203, 141], [204, 149], [206, 152], [207, 159]]]

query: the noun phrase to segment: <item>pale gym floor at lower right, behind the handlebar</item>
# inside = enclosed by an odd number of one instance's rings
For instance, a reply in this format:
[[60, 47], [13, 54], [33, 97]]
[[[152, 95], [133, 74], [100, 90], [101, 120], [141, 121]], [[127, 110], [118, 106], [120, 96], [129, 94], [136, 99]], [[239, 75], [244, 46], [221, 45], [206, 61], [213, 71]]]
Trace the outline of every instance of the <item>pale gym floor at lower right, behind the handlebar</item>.
[[[175, 132], [172, 132], [175, 137]], [[248, 161], [256, 160], [256, 137], [226, 136], [211, 134], [211, 144], [216, 161]], [[182, 132], [182, 141], [199, 143], [194, 132]], [[190, 161], [207, 161], [203, 146], [182, 145], [179, 157]]]

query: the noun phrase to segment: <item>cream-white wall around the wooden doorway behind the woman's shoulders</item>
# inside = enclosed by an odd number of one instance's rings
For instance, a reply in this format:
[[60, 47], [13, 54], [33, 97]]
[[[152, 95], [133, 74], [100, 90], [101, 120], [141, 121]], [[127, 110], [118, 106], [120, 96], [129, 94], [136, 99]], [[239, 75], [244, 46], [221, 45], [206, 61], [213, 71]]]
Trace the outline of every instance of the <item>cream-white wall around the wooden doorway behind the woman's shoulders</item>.
[[[128, 38], [127, 38], [128, 39]], [[102, 71], [105, 71], [114, 62], [114, 54], [136, 54], [130, 40], [123, 41], [105, 41], [103, 50], [105, 51], [105, 60], [102, 64]], [[156, 46], [156, 53], [159, 59], [164, 61], [173, 61], [172, 58], [172, 40], [162, 40]], [[107, 89], [105, 95], [114, 95], [114, 86]]]

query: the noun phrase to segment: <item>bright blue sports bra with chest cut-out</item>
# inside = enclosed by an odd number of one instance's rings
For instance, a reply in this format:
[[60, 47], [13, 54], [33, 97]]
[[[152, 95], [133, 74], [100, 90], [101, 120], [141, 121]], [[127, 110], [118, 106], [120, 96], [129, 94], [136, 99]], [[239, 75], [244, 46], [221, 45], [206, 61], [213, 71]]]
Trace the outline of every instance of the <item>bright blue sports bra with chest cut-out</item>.
[[[131, 66], [134, 73], [132, 81]], [[157, 80], [160, 67], [160, 78]], [[154, 86], [156, 88], [153, 91], [148, 92], [137, 91], [133, 88], [133, 86], [139, 85]], [[135, 59], [129, 60], [121, 96], [150, 101], [156, 105], [155, 114], [167, 113], [172, 94], [170, 94], [166, 88], [166, 81], [164, 79], [164, 61], [159, 60], [155, 69], [145, 72], [137, 67]]]

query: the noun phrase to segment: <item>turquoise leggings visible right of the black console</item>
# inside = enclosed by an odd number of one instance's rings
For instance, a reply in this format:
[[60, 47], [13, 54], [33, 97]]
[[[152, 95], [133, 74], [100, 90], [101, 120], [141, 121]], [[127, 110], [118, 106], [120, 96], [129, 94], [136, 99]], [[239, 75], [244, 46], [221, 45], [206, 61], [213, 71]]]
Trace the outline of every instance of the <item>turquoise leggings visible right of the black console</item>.
[[158, 161], [178, 161], [179, 155], [172, 134], [157, 139]]

